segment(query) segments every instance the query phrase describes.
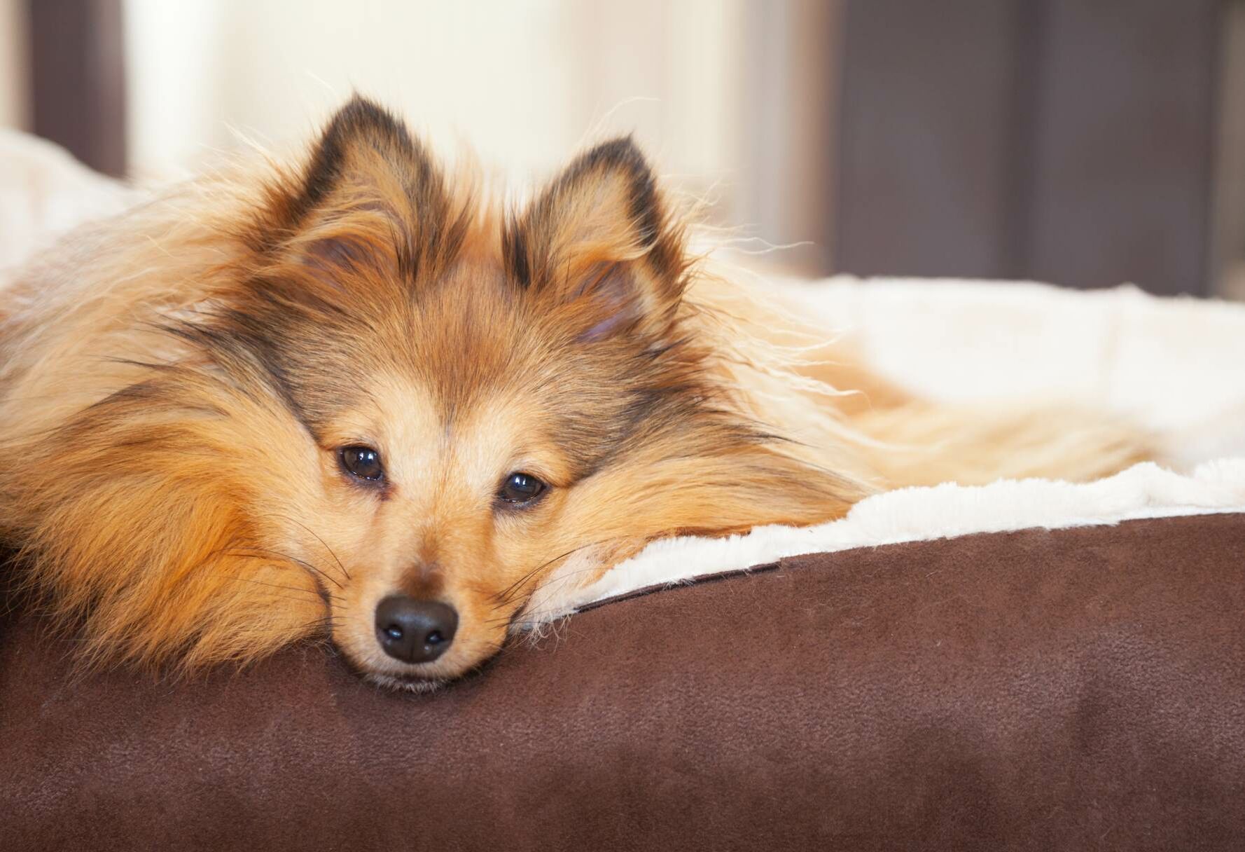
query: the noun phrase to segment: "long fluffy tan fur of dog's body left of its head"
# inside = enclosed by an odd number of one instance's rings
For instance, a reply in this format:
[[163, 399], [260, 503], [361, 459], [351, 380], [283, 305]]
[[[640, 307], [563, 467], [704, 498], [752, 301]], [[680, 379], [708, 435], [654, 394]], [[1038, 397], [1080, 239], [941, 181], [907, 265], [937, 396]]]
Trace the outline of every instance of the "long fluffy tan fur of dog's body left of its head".
[[[230, 189], [181, 188], [80, 229], [4, 294], [0, 534], [26, 585], [83, 632], [87, 664], [249, 660], [325, 614], [309, 569], [266, 553], [271, 521], [248, 511], [250, 495], [288, 495], [286, 477], [237, 452], [301, 436], [151, 326], [217, 285]], [[142, 394], [144, 364], [179, 362], [171, 396], [203, 416], [168, 397], [110, 411]]]

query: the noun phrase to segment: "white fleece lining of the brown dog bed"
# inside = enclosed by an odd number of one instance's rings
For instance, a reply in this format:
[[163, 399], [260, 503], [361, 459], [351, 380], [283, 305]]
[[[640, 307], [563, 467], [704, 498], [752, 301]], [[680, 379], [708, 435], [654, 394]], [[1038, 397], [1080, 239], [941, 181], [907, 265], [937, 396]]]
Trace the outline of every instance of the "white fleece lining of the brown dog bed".
[[[128, 198], [55, 147], [0, 132], [0, 269]], [[575, 566], [566, 566], [565, 579], [538, 590], [529, 617], [552, 620], [634, 589], [799, 553], [1245, 512], [1245, 305], [1015, 282], [834, 278], [783, 286], [828, 330], [854, 334], [874, 370], [923, 396], [1083, 400], [1164, 436], [1178, 470], [1138, 465], [1089, 485], [905, 488], [818, 527], [655, 542], [588, 587], [578, 587]]]

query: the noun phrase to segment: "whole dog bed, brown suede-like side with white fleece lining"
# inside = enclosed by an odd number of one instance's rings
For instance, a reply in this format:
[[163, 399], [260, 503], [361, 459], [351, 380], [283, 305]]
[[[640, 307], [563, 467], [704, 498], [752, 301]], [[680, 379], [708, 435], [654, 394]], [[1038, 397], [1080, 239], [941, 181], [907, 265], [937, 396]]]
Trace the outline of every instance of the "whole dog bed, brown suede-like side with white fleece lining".
[[[0, 192], [24, 228], [0, 265], [126, 203], [20, 136]], [[431, 695], [316, 645], [189, 683], [75, 676], [72, 637], [10, 612], [0, 848], [1238, 848], [1245, 308], [784, 286], [900, 385], [1104, 405], [1172, 468], [657, 542], [552, 583], [528, 640]]]

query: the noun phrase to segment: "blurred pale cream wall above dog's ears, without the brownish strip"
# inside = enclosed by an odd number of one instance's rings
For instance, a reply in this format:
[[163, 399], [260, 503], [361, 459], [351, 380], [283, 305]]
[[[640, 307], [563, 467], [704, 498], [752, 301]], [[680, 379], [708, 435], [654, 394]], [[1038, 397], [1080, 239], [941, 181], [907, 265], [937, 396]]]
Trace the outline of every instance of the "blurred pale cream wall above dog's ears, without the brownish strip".
[[164, 174], [237, 144], [276, 147], [352, 88], [441, 147], [520, 176], [635, 131], [665, 168], [740, 166], [741, 0], [127, 0], [131, 163]]

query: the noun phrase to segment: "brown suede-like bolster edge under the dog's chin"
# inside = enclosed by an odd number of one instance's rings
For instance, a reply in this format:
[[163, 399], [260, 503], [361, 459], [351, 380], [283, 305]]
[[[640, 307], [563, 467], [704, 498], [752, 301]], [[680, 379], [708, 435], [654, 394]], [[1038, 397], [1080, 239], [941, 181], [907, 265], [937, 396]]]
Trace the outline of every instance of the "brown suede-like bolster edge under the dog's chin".
[[433, 695], [73, 679], [16, 614], [0, 848], [1240, 848], [1243, 580], [1243, 514], [804, 556]]

